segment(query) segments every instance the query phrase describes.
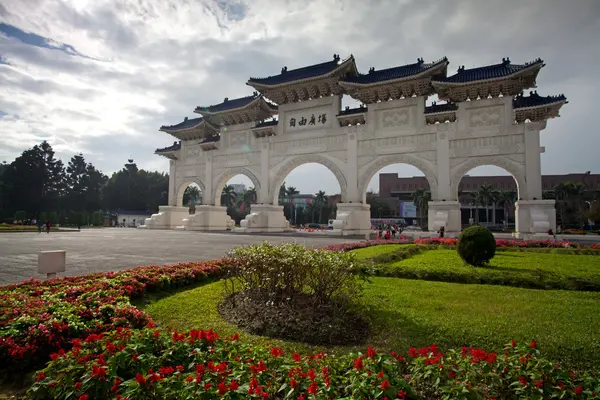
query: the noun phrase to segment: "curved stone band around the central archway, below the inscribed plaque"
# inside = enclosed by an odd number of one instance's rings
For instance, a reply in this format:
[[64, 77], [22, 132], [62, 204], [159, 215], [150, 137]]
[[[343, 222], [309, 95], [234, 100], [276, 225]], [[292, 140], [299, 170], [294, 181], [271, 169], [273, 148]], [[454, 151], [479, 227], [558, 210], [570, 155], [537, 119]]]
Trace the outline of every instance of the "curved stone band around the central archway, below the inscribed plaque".
[[270, 179], [269, 182], [269, 197], [268, 199], [272, 202], [271, 204], [277, 204], [279, 198], [279, 188], [285, 181], [285, 178], [292, 172], [295, 168], [308, 163], [317, 163], [327, 167], [338, 183], [340, 184], [340, 191], [342, 196], [342, 203], [346, 200], [346, 189], [348, 187], [348, 183], [346, 181], [346, 175], [342, 168], [338, 165], [339, 161], [335, 161], [335, 159], [319, 154], [307, 154], [293, 157], [283, 163], [281, 167], [275, 172], [275, 175]]

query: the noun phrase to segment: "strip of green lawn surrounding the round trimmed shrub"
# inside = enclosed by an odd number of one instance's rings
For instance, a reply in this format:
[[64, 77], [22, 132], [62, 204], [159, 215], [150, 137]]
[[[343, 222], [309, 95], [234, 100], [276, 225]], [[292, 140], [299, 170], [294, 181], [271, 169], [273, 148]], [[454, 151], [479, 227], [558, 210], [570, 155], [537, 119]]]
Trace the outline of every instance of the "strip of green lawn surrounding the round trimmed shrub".
[[456, 250], [425, 250], [377, 266], [378, 274], [442, 282], [540, 289], [600, 291], [600, 257], [531, 251], [497, 251], [487, 267], [465, 264]]

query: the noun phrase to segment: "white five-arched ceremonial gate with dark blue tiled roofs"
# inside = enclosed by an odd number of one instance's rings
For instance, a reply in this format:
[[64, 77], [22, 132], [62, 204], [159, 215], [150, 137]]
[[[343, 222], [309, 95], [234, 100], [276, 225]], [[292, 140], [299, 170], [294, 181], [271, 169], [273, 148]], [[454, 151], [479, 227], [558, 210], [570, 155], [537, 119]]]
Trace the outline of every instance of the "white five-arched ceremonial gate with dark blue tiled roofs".
[[[334, 232], [371, 230], [367, 186], [383, 167], [405, 163], [429, 182], [429, 230], [450, 235], [461, 230], [458, 185], [465, 173], [495, 165], [518, 186], [519, 236], [555, 230], [553, 200], [542, 200], [540, 131], [558, 116], [564, 96], [522, 91], [535, 87], [541, 60], [474, 69], [447, 76], [448, 60], [358, 73], [354, 58], [251, 78], [257, 92], [197, 107], [202, 117], [161, 131], [179, 139], [156, 154], [170, 161], [169, 204], [146, 220], [149, 229], [225, 230], [231, 227], [221, 191], [237, 174], [250, 178], [257, 204], [236, 230], [282, 232], [288, 223], [278, 205], [287, 175], [306, 163], [329, 168], [341, 188]], [[426, 106], [435, 95], [445, 104]], [[343, 95], [364, 105], [341, 109]], [[278, 116], [275, 120], [275, 116]], [[315, 176], [315, 180], [319, 177]], [[202, 205], [189, 215], [183, 193], [196, 183]]]

